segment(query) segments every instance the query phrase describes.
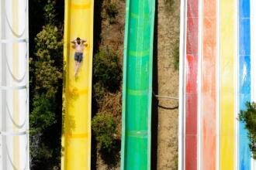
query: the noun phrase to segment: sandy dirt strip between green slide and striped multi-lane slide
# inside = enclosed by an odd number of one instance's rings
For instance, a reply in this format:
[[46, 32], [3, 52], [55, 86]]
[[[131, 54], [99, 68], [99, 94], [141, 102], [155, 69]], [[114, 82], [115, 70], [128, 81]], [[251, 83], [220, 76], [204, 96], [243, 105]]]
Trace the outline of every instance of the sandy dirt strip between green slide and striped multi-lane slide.
[[[158, 94], [178, 97], [174, 51], [179, 38], [179, 0], [158, 0]], [[157, 169], [176, 169], [178, 155], [178, 100], [158, 99]]]

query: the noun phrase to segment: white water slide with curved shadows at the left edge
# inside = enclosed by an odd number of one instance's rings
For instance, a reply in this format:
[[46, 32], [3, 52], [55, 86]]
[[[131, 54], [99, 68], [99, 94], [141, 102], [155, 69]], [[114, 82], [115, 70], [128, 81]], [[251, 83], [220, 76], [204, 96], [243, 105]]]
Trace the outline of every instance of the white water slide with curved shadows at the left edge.
[[0, 170], [29, 169], [28, 0], [0, 0]]

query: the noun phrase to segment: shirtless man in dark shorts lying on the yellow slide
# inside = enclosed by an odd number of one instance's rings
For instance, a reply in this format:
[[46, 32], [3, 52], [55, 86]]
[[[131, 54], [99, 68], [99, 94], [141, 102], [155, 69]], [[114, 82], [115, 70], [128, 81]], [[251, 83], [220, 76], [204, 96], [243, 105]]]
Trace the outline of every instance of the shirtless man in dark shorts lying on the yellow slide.
[[74, 53], [74, 76], [78, 76], [78, 69], [80, 66], [81, 61], [83, 60], [83, 51], [85, 49], [84, 43], [86, 42], [86, 39], [80, 39], [79, 37], [77, 39], [74, 39], [71, 41], [74, 43], [75, 53]]

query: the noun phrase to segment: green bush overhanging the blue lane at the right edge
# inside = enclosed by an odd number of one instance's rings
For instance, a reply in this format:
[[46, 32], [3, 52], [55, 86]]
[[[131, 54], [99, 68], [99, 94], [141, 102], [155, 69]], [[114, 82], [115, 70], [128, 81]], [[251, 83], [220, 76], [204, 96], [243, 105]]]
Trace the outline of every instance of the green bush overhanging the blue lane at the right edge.
[[250, 140], [249, 147], [252, 157], [256, 159], [256, 104], [247, 102], [246, 107], [246, 110], [240, 110], [238, 120], [245, 124]]

